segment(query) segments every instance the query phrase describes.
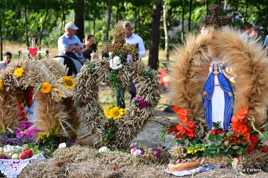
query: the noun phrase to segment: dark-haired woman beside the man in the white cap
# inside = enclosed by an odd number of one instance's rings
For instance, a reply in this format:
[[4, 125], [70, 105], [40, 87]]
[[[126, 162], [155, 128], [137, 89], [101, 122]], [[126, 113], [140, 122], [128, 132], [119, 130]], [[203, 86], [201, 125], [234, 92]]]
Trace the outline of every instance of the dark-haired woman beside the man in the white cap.
[[[82, 54], [84, 55], [85, 58], [91, 59], [92, 53], [95, 53], [97, 50], [97, 44], [94, 43], [94, 36], [91, 34], [85, 35], [85, 38], [83, 39], [83, 45], [84, 49], [81, 50]], [[96, 55], [94, 55], [96, 56]]]

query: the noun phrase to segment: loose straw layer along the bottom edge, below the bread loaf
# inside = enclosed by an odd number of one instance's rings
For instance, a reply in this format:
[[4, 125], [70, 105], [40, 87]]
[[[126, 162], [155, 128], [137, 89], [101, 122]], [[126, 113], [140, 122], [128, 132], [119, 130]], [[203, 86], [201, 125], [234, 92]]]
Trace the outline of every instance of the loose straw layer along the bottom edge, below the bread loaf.
[[[47, 159], [44, 161], [37, 161], [27, 165], [18, 177], [177, 177], [172, 174], [163, 172], [161, 170], [168, 168], [167, 165], [154, 165], [154, 166], [125, 166], [119, 169], [110, 170], [114, 165], [100, 164], [96, 161], [75, 163], [65, 163], [59, 167], [54, 163], [57, 160]], [[222, 172], [221, 168], [211, 169], [205, 172], [194, 173], [182, 178], [189, 177], [258, 177], [266, 178], [268, 173], [259, 172], [253, 175], [240, 172]]]

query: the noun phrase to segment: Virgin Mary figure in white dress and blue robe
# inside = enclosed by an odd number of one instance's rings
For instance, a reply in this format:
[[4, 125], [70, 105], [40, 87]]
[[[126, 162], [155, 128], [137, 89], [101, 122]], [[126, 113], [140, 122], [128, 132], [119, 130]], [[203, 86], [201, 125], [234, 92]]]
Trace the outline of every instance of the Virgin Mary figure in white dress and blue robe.
[[219, 121], [219, 128], [228, 130], [233, 114], [234, 93], [217, 61], [211, 63], [202, 96], [207, 128], [213, 129], [212, 122]]

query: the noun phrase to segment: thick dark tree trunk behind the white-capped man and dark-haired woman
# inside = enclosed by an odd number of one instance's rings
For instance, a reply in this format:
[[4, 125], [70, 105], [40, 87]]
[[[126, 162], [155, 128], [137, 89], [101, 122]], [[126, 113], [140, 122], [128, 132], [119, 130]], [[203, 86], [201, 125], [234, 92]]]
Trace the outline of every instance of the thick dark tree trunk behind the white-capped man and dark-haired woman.
[[75, 0], [76, 8], [75, 8], [75, 26], [79, 29], [76, 30], [76, 36], [82, 42], [84, 39], [84, 1], [83, 0]]

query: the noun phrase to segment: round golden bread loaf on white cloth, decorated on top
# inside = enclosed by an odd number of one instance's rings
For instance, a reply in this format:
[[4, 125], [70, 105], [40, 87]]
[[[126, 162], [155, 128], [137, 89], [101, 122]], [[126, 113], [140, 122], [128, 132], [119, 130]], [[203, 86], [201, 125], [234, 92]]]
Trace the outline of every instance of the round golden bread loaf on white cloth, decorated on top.
[[[170, 172], [178, 172], [184, 170], [191, 170], [200, 167], [199, 160], [186, 159], [186, 160], [171, 160], [171, 163], [168, 164]], [[177, 163], [177, 164], [176, 164]]]

